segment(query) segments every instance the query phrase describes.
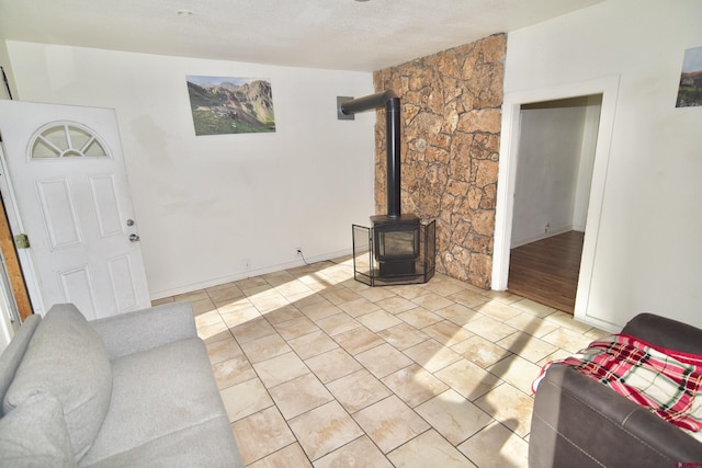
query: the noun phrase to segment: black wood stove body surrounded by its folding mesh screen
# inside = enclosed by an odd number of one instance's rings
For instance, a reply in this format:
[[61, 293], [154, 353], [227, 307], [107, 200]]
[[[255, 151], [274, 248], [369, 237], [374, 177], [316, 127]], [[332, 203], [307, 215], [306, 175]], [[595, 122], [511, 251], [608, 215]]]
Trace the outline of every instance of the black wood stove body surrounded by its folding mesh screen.
[[427, 283], [435, 269], [435, 226], [353, 225], [354, 278], [369, 286]]

